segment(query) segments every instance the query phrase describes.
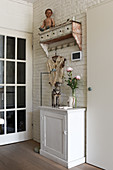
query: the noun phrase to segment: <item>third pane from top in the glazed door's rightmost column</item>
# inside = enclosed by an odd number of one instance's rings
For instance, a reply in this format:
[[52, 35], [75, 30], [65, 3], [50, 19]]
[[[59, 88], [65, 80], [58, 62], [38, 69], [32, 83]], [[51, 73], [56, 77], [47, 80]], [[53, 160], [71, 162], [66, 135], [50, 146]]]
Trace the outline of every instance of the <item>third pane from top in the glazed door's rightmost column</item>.
[[25, 87], [17, 87], [17, 107], [18, 108], [22, 108], [22, 107], [26, 107], [26, 92], [25, 92]]

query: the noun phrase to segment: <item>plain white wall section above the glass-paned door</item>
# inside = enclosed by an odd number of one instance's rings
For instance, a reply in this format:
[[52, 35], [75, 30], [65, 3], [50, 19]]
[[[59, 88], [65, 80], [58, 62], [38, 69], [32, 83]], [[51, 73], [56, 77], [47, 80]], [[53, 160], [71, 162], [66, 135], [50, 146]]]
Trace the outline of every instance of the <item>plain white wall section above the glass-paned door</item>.
[[[24, 2], [24, 1], [23, 1]], [[0, 27], [32, 33], [33, 6], [18, 1], [0, 1]]]

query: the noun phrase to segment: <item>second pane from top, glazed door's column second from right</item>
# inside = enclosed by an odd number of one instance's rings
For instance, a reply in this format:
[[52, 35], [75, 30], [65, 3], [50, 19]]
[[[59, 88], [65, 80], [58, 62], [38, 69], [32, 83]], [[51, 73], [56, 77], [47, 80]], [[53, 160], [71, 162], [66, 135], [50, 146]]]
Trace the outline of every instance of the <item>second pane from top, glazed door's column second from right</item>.
[[11, 61], [6, 62], [6, 83], [15, 83], [15, 63]]

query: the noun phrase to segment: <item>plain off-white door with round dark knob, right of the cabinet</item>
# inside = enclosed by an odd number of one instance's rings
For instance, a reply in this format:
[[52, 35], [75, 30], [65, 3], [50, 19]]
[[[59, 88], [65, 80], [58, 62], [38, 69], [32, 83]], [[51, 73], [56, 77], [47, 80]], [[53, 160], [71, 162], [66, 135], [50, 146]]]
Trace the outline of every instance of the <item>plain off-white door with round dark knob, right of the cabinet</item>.
[[113, 1], [87, 17], [87, 162], [113, 170]]

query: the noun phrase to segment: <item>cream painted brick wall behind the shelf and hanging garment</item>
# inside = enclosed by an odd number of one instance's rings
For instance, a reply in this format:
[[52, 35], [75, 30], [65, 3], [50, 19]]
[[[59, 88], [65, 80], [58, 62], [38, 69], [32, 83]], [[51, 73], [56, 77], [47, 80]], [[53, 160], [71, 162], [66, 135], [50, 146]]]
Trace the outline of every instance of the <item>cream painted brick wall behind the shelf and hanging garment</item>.
[[[65, 22], [68, 18], [76, 17], [82, 23], [82, 51], [81, 61], [72, 62], [70, 54], [77, 51], [78, 47], [72, 45], [63, 49], [58, 49], [57, 54], [67, 59], [66, 66], [73, 67], [73, 74], [81, 76], [81, 84], [77, 89], [78, 106], [87, 107], [87, 30], [86, 11], [87, 8], [108, 2], [108, 0], [38, 0], [34, 4], [34, 27], [33, 27], [33, 138], [40, 141], [40, 72], [47, 71], [47, 57], [39, 44], [39, 27], [45, 19], [45, 9], [53, 10], [53, 17], [56, 25]], [[55, 51], [49, 52], [49, 57], [54, 56]], [[51, 88], [48, 84], [48, 76], [43, 76], [43, 105], [51, 105]], [[62, 104], [67, 104], [71, 89], [66, 84], [62, 85]]]

